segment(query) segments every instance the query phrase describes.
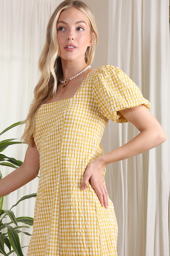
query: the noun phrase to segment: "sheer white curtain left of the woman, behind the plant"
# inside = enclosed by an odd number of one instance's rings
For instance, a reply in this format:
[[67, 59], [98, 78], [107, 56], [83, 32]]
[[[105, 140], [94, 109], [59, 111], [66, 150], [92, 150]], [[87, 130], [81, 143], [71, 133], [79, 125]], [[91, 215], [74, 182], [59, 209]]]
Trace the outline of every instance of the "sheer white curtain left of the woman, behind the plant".
[[[0, 130], [24, 120], [37, 84], [38, 59], [45, 42], [48, 20], [62, 0], [0, 0]], [[20, 138], [24, 126], [4, 133], [0, 140]], [[7, 148], [6, 156], [24, 160], [26, 145]], [[0, 166], [3, 176], [12, 168]], [[10, 209], [22, 196], [36, 193], [39, 179], [4, 198], [4, 209]], [[19, 203], [13, 208], [16, 217], [34, 214], [35, 199]], [[32, 229], [25, 229], [32, 233]], [[30, 236], [20, 235], [22, 246], [28, 245]], [[27, 248], [23, 249], [26, 255]], [[14, 253], [14, 255], [16, 255]]]

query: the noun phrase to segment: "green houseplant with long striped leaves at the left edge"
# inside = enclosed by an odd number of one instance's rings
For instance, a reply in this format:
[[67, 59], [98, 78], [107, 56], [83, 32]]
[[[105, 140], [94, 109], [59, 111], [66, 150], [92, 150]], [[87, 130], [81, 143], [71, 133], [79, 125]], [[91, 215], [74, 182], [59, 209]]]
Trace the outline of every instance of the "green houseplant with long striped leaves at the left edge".
[[[12, 124], [11, 126], [7, 127], [3, 132], [0, 133], [2, 135], [4, 132], [8, 131], [9, 129], [22, 124], [22, 122], [17, 122], [15, 124]], [[21, 141], [15, 141], [17, 139], [7, 139], [0, 141], [0, 152], [4, 151], [5, 148], [7, 148], [10, 145], [13, 144], [20, 144]], [[22, 165], [22, 161], [16, 160], [13, 157], [8, 157], [0, 153], [0, 165], [9, 166], [12, 168], [18, 168]], [[0, 171], [0, 180], [2, 179], [2, 173]], [[3, 209], [3, 202], [5, 196], [0, 197], [0, 254], [2, 255], [10, 255], [12, 252], [15, 252], [18, 256], [24, 256], [22, 253], [22, 248], [20, 245], [20, 240], [18, 233], [22, 232], [25, 235], [31, 236], [28, 232], [22, 231], [22, 228], [29, 228], [29, 226], [33, 225], [33, 218], [31, 217], [18, 217], [16, 218], [14, 215], [14, 212], [11, 211], [11, 209], [19, 204], [19, 202], [29, 199], [32, 197], [36, 197], [36, 193], [23, 196], [18, 202], [10, 208], [10, 210], [4, 210]], [[10, 222], [5, 222], [5, 218], [8, 217]], [[25, 225], [18, 226], [18, 223], [23, 223]], [[29, 226], [27, 226], [29, 225]], [[5, 251], [5, 246], [7, 246], [8, 251]], [[12, 249], [13, 250], [12, 250]]]

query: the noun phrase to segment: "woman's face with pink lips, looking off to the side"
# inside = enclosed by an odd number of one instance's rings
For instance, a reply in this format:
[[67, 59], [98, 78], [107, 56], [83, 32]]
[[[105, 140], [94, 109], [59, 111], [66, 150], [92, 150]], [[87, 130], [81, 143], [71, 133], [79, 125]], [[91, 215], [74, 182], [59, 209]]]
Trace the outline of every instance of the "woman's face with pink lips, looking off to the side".
[[61, 60], [85, 61], [85, 52], [91, 46], [89, 20], [77, 8], [64, 10], [57, 22], [57, 40]]

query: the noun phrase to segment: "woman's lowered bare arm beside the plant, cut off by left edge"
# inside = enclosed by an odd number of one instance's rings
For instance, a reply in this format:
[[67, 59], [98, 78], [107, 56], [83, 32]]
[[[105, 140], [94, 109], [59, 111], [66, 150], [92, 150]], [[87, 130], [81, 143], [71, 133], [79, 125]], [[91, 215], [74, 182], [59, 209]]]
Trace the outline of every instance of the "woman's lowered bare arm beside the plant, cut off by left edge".
[[[40, 156], [32, 139], [28, 146], [23, 164], [0, 180], [0, 197], [11, 193], [33, 180], [40, 169]], [[35, 174], [36, 170], [36, 174]]]

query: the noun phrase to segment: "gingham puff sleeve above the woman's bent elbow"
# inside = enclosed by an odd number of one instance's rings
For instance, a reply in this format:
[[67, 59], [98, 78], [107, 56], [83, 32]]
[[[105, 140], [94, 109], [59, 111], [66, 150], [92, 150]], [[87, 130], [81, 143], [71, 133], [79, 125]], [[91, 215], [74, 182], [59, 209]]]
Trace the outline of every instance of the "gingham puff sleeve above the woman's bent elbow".
[[117, 123], [128, 122], [118, 111], [144, 104], [146, 100], [137, 85], [120, 68], [100, 66], [93, 76], [93, 96], [100, 113]]

